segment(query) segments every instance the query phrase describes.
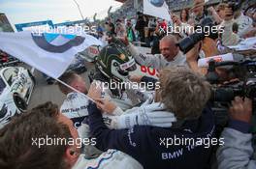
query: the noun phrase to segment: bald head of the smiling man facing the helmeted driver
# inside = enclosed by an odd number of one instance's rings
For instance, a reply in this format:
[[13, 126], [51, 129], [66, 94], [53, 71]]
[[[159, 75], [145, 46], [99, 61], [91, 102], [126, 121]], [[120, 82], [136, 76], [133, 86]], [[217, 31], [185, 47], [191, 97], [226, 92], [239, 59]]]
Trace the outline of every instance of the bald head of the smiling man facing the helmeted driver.
[[159, 44], [161, 54], [168, 62], [171, 62], [176, 57], [179, 48], [176, 46], [176, 37], [173, 35], [165, 36]]

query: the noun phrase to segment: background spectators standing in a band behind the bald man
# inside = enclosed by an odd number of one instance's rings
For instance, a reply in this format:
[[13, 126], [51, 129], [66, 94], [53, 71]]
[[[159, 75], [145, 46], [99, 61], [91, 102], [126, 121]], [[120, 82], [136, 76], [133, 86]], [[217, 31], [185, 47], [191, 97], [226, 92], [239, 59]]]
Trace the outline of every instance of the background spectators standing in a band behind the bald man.
[[[227, 14], [228, 8], [225, 8], [227, 5], [228, 3], [220, 3], [214, 7], [206, 7], [205, 2], [198, 1], [192, 8], [183, 9], [179, 13], [170, 11], [172, 20], [138, 12], [137, 15], [118, 17], [115, 20], [110, 17], [105, 25], [99, 27], [101, 27], [100, 30], [105, 28], [108, 36], [113, 35], [118, 38], [127, 36], [129, 42], [151, 47], [152, 54], [160, 53], [157, 46], [166, 35], [168, 28], [174, 27], [175, 24], [177, 26], [195, 26], [206, 17], [211, 17], [216, 25], [225, 27], [225, 35], [221, 37], [225, 45], [234, 45], [240, 42], [240, 38], [255, 36], [255, 5], [248, 7], [241, 4], [240, 9], [237, 9], [234, 14], [233, 12]], [[241, 7], [244, 8], [241, 9]], [[102, 35], [101, 31], [100, 34]], [[189, 32], [184, 30], [176, 36], [179, 40], [188, 34]]]

